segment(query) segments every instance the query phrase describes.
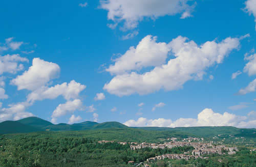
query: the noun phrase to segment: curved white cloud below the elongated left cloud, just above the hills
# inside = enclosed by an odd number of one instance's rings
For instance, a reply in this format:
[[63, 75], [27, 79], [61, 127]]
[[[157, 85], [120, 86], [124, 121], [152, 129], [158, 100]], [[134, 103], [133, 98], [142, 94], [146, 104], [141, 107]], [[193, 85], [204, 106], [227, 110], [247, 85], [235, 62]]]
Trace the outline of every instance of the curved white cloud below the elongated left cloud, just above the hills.
[[69, 113], [74, 113], [75, 110], [82, 110], [83, 105], [80, 99], [75, 99], [73, 101], [67, 101], [65, 104], [59, 104], [52, 114], [52, 122], [56, 123], [57, 118], [65, 116]]

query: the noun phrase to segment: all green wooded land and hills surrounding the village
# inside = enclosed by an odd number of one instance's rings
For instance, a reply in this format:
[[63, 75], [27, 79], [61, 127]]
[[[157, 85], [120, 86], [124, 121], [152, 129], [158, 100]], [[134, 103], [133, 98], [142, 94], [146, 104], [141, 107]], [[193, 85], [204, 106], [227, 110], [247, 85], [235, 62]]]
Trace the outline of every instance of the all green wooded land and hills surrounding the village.
[[[30, 132], [30, 133], [27, 133]], [[204, 137], [216, 144], [239, 146], [234, 155], [208, 159], [159, 160], [152, 166], [256, 166], [256, 130], [234, 127], [131, 128], [118, 122], [57, 124], [30, 117], [0, 123], [0, 166], [134, 166], [162, 154], [180, 154], [193, 147], [131, 150], [118, 142], [163, 143], [169, 137]], [[17, 134], [11, 134], [17, 133]], [[217, 136], [217, 137], [216, 137]], [[214, 137], [214, 138], [212, 138]], [[108, 140], [114, 143], [99, 144]], [[246, 147], [245, 147], [246, 146]]]

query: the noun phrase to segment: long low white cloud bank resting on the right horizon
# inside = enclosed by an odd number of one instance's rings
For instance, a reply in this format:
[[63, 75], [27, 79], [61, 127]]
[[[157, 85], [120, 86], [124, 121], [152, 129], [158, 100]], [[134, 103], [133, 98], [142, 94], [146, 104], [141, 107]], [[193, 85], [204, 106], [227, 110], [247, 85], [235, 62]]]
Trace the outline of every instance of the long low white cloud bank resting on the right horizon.
[[246, 116], [237, 116], [230, 113], [215, 113], [210, 108], [205, 108], [198, 114], [197, 119], [180, 118], [176, 121], [170, 119], [146, 119], [139, 118], [124, 123], [126, 126], [154, 126], [154, 127], [193, 127], [193, 126], [235, 126], [235, 127], [256, 127], [256, 120], [248, 120]]

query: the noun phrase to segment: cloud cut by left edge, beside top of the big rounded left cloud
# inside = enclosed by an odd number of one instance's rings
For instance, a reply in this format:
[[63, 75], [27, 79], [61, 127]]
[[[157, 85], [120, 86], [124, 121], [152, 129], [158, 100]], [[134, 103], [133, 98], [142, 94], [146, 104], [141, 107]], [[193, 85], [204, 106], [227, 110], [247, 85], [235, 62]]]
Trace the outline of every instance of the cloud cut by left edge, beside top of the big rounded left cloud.
[[23, 70], [23, 64], [18, 64], [18, 62], [29, 62], [29, 60], [20, 57], [19, 54], [0, 55], [0, 74], [5, 72], [15, 74], [17, 71]]

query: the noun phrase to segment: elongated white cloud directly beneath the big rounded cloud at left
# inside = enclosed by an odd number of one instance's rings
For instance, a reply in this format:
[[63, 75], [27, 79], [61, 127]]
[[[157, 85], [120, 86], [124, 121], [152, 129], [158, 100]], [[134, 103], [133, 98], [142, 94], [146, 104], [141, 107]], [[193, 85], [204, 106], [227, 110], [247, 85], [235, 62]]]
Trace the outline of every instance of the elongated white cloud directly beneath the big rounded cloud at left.
[[79, 97], [79, 93], [86, 89], [85, 85], [81, 85], [75, 80], [71, 80], [69, 84], [67, 82], [61, 85], [55, 85], [54, 87], [41, 87], [27, 96], [27, 101], [34, 102], [36, 100], [55, 99], [62, 95], [66, 100], [76, 99]]

